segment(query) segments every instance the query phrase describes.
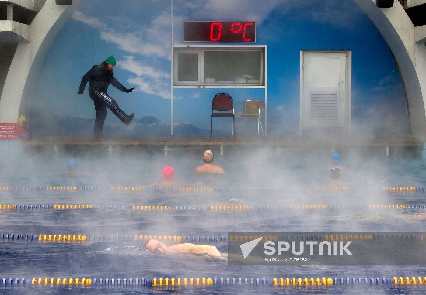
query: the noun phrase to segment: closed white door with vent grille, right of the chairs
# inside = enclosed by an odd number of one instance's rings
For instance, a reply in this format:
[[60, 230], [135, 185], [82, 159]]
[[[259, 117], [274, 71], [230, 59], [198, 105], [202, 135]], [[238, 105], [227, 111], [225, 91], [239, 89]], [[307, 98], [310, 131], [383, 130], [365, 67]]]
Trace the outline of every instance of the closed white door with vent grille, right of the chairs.
[[301, 127], [345, 127], [346, 52], [303, 52], [301, 67]]

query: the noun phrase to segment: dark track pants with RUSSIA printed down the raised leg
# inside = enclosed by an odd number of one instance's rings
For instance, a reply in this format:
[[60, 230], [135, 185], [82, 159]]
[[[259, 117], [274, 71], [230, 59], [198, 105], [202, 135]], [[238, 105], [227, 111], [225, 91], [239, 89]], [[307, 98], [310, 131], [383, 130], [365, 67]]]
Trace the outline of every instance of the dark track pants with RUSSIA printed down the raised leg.
[[107, 118], [107, 108], [114, 113], [118, 119], [121, 120], [124, 124], [129, 122], [130, 116], [127, 116], [123, 110], [117, 105], [114, 99], [111, 98], [108, 94], [103, 91], [92, 91], [89, 92], [89, 96], [93, 99], [95, 104], [96, 119], [95, 119], [95, 130], [93, 135], [99, 137], [102, 134], [102, 129], [104, 129], [104, 122]]

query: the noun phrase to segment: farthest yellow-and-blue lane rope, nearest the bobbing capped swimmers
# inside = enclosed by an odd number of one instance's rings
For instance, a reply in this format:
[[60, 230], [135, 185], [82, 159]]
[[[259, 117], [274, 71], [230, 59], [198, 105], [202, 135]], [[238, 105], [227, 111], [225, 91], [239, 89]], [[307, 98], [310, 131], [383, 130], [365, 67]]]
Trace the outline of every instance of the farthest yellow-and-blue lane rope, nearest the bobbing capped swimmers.
[[258, 187], [76, 187], [76, 186], [48, 186], [48, 187], [27, 187], [27, 186], [0, 186], [0, 190], [54, 190], [54, 191], [120, 191], [120, 192], [227, 192], [227, 191], [247, 191], [247, 190], [305, 190], [305, 191], [383, 191], [397, 193], [425, 192], [426, 187], [331, 187], [331, 186], [258, 186]]

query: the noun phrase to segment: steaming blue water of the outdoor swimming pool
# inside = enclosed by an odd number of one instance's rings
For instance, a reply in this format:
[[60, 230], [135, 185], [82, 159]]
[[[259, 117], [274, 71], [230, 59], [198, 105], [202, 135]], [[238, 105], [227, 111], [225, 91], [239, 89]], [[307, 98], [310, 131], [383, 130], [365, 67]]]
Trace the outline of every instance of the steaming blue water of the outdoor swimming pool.
[[[51, 159], [40, 156], [31, 162], [14, 162], [7, 167], [10, 175], [2, 171], [0, 183], [15, 187], [144, 187], [158, 181], [161, 167], [175, 168], [178, 182], [193, 187], [236, 188], [239, 190], [209, 192], [159, 191], [85, 191], [85, 190], [3, 190], [2, 204], [91, 204], [91, 205], [159, 205], [159, 206], [279, 206], [253, 210], [134, 210], [127, 208], [89, 209], [33, 209], [0, 210], [1, 233], [46, 235], [110, 235], [114, 240], [88, 240], [76, 243], [49, 241], [0, 241], [1, 278], [121, 278], [121, 284], [106, 286], [26, 284], [2, 286], [24, 289], [31, 293], [81, 292], [100, 293], [108, 288], [112, 293], [150, 292], [174, 293], [282, 293], [297, 290], [301, 293], [318, 291], [328, 293], [417, 293], [424, 285], [393, 284], [334, 284], [333, 286], [274, 286], [256, 284], [256, 278], [393, 278], [422, 277], [425, 266], [228, 266], [226, 260], [193, 255], [153, 255], [144, 250], [144, 241], [135, 241], [134, 235], [227, 236], [228, 232], [425, 232], [425, 218], [414, 216], [423, 209], [372, 209], [368, 205], [426, 205], [424, 191], [403, 193], [384, 192], [383, 187], [426, 187], [419, 159], [357, 159], [345, 161], [343, 177], [354, 187], [377, 187], [377, 190], [315, 191], [296, 187], [314, 187], [326, 181], [326, 160], [318, 155], [273, 157], [271, 153], [255, 155], [234, 154], [232, 160], [217, 157], [225, 177], [198, 178], [193, 167], [201, 165], [197, 154], [176, 151], [164, 158], [146, 155], [117, 156], [111, 158], [76, 157], [79, 168], [87, 176], [61, 176], [66, 158]], [[326, 158], [328, 159], [328, 158]], [[347, 156], [349, 158], [349, 155]], [[24, 159], [16, 160], [24, 161]], [[7, 165], [7, 164], [6, 164]], [[26, 169], [21, 169], [24, 165]], [[21, 168], [17, 168], [21, 167]], [[158, 173], [154, 173], [158, 171]], [[13, 176], [13, 177], [12, 177]], [[383, 181], [383, 183], [382, 183]], [[371, 182], [371, 183], [370, 183]], [[279, 187], [279, 189], [251, 189], [247, 187]], [[287, 188], [286, 188], [287, 187]], [[291, 188], [289, 188], [291, 187]], [[227, 203], [230, 199], [238, 199]], [[332, 205], [322, 209], [293, 209], [298, 205]], [[358, 207], [344, 207], [358, 205]], [[290, 207], [292, 206], [292, 207]], [[125, 239], [121, 236], [130, 236]], [[117, 239], [118, 236], [118, 239]], [[208, 242], [227, 252], [227, 242]], [[140, 286], [123, 279], [133, 278], [236, 278], [235, 285], [194, 286]], [[242, 278], [242, 284], [238, 284]], [[248, 278], [248, 284], [244, 279]], [[250, 284], [250, 278], [255, 283]], [[102, 288], [102, 290], [100, 289]], [[28, 289], [28, 290], [27, 290]]]

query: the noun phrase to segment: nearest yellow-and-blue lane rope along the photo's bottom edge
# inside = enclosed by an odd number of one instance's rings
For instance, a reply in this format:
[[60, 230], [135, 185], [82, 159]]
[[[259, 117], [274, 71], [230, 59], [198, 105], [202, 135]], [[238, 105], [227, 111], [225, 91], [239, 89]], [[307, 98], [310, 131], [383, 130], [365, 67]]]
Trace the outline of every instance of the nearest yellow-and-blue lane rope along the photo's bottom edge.
[[370, 278], [3, 278], [2, 286], [216, 286], [216, 285], [269, 285], [269, 286], [332, 286], [355, 284], [426, 285], [426, 277], [370, 277]]

